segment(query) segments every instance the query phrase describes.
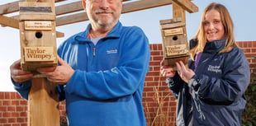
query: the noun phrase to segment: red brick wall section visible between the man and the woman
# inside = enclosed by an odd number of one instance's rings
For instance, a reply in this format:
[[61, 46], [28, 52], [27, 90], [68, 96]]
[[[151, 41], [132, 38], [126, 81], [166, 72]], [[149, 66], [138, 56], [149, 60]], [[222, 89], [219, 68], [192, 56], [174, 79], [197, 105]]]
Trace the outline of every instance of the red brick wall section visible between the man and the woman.
[[143, 104], [148, 125], [175, 125], [176, 99], [160, 76], [162, 44], [150, 44], [150, 70], [145, 79]]

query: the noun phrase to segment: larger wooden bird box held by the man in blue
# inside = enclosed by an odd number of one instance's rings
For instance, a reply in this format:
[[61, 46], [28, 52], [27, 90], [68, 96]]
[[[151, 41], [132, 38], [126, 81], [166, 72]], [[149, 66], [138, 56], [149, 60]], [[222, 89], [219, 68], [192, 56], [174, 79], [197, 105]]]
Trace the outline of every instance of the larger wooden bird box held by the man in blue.
[[19, 2], [21, 68], [57, 66], [55, 5], [50, 2]]

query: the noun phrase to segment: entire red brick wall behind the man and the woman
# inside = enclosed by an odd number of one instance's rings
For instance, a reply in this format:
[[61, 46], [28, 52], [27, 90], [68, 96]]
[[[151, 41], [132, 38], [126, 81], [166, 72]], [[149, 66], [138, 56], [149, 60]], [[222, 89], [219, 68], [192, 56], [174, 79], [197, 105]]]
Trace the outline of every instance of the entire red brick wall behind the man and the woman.
[[[238, 42], [249, 58], [250, 64], [256, 61], [256, 41]], [[143, 105], [148, 125], [175, 125], [176, 99], [173, 98], [164, 83], [165, 78], [159, 75], [159, 63], [163, 58], [162, 44], [150, 44], [150, 71], [145, 78]], [[65, 102], [59, 104], [61, 119], [65, 117]], [[17, 92], [0, 92], [0, 126], [27, 126], [27, 101]]]

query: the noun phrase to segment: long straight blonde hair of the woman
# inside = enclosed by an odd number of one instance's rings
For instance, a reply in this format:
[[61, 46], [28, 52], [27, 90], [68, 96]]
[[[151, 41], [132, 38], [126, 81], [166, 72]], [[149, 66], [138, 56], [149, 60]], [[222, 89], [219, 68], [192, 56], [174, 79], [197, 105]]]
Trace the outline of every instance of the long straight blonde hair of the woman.
[[231, 19], [230, 13], [228, 12], [227, 8], [222, 4], [211, 2], [211, 4], [208, 5], [208, 7], [206, 7], [206, 9], [201, 15], [201, 23], [197, 30], [197, 34], [195, 35], [195, 39], [198, 40], [197, 46], [195, 46], [190, 52], [191, 58], [193, 61], [195, 60], [195, 55], [202, 52], [206, 45], [207, 39], [206, 39], [206, 33], [204, 31], [203, 23], [205, 21], [206, 12], [210, 11], [211, 9], [214, 9], [220, 12], [220, 21], [225, 30], [225, 33], [224, 33], [224, 39], [226, 40], [225, 47], [224, 49], [220, 50], [219, 54], [230, 52], [230, 50], [233, 49], [234, 47], [238, 47], [238, 45], [235, 43], [235, 36], [233, 31], [234, 24]]

